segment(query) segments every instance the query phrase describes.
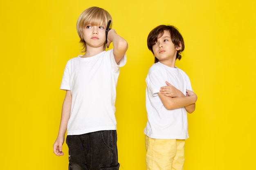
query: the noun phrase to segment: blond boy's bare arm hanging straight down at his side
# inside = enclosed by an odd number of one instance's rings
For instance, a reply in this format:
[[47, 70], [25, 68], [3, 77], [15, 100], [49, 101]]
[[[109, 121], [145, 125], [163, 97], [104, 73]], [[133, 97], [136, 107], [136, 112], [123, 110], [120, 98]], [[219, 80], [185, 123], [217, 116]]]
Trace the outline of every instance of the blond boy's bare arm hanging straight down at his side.
[[53, 152], [57, 156], [63, 156], [64, 152], [62, 152], [62, 145], [65, 140], [65, 133], [67, 130], [67, 122], [70, 118], [70, 109], [71, 109], [72, 95], [70, 91], [66, 91], [65, 99], [62, 105], [61, 112], [61, 124], [58, 131], [58, 137], [53, 144]]

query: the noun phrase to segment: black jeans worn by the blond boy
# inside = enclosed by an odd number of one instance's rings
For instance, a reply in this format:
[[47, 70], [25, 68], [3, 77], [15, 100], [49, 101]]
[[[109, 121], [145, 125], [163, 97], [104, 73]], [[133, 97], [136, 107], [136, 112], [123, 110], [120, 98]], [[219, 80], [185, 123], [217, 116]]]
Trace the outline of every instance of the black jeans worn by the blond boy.
[[119, 170], [117, 131], [68, 135], [69, 170]]

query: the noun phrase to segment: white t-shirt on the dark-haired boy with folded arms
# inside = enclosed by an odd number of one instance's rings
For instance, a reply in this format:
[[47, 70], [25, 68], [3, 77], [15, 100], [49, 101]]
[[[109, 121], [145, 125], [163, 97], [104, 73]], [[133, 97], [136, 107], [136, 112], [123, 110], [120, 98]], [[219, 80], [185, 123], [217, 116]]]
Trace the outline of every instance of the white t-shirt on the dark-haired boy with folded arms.
[[153, 139], [187, 139], [188, 122], [186, 109], [167, 110], [158, 94], [160, 87], [169, 82], [186, 95], [192, 91], [189, 77], [179, 68], [168, 67], [160, 62], [153, 64], [146, 77], [146, 110], [148, 122], [145, 135]]

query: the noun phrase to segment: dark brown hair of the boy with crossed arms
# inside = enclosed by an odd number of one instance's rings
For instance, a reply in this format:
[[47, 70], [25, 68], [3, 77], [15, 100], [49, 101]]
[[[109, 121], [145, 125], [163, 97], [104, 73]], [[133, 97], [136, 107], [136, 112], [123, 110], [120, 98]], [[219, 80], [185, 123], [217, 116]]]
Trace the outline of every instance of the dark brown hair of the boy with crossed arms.
[[[185, 45], [184, 40], [180, 32], [175, 28], [175, 26], [172, 25], [159, 25], [155, 27], [150, 33], [148, 34], [148, 49], [154, 54], [153, 52], [153, 44], [157, 42], [157, 38], [161, 37], [164, 34], [164, 31], [169, 31], [171, 35], [171, 40], [176, 47], [180, 47], [180, 50], [177, 51], [176, 59], [181, 59], [181, 52], [184, 51]], [[159, 60], [155, 57], [155, 63], [157, 63]]]

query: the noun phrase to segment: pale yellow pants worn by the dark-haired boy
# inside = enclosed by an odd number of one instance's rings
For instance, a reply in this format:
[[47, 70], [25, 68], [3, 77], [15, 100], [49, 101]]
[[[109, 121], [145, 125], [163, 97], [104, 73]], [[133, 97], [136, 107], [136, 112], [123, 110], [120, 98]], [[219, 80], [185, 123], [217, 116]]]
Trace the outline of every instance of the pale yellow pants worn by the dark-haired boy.
[[145, 135], [147, 170], [183, 170], [184, 139], [152, 139]]

